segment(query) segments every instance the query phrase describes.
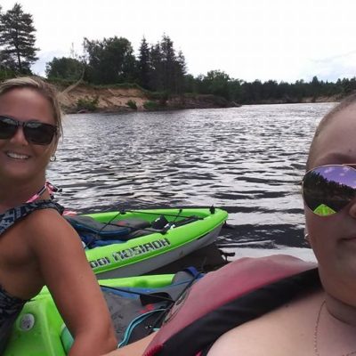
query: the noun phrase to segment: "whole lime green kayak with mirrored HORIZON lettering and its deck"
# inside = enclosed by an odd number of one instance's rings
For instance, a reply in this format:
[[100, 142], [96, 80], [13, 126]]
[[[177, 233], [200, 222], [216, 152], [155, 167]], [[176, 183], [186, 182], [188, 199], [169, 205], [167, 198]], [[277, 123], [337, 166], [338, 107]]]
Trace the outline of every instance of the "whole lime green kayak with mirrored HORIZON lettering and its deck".
[[[79, 218], [99, 224], [92, 227], [96, 232], [89, 231], [89, 238], [85, 237], [86, 241], [95, 240], [93, 248], [85, 251], [94, 273], [98, 279], [115, 279], [154, 271], [212, 244], [228, 214], [218, 208], [168, 208], [86, 214]], [[79, 234], [81, 223], [76, 227]], [[99, 240], [97, 231], [102, 235]], [[98, 246], [99, 243], [106, 246]]]

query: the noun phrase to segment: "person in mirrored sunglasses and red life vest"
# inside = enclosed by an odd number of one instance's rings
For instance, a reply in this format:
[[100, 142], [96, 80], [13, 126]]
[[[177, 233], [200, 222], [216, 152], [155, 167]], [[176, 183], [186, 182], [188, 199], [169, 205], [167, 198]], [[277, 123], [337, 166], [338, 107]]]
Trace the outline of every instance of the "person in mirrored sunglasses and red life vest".
[[[109, 355], [356, 355], [356, 95], [321, 120], [303, 200], [318, 265], [283, 255], [230, 263], [199, 280], [156, 335]], [[229, 273], [224, 288], [210, 278]], [[205, 280], [214, 299], [231, 297], [194, 319], [210, 303]]]

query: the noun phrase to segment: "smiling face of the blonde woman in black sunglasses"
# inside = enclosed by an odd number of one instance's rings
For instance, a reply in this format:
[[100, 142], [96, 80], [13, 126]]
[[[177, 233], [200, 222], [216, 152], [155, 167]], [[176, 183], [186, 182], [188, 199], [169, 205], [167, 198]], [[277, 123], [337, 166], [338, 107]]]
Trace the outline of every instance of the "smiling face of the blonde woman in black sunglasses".
[[[43, 95], [29, 88], [16, 88], [0, 95], [0, 116], [26, 122], [36, 120], [55, 125], [51, 104]], [[31, 182], [43, 180], [45, 167], [56, 150], [54, 136], [49, 145], [36, 145], [26, 140], [22, 127], [7, 140], [0, 139], [0, 180]]]

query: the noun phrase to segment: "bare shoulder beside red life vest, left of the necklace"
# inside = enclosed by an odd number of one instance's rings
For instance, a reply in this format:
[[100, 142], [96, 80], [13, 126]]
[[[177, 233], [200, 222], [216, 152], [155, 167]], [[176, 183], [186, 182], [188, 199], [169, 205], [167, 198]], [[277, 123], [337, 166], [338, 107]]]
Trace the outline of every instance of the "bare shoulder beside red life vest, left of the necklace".
[[263, 317], [225, 333], [207, 356], [313, 355], [313, 335], [321, 291], [303, 295]]

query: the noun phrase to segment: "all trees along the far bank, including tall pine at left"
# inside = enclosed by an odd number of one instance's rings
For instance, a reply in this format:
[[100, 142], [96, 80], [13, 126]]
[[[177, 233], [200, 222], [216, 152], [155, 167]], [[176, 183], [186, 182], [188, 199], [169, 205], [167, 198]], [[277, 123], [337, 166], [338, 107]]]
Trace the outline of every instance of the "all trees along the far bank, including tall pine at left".
[[[31, 74], [37, 61], [36, 28], [32, 15], [14, 4], [7, 12], [0, 6], [0, 80]], [[52, 81], [73, 83], [83, 79], [93, 85], [139, 85], [157, 98], [168, 98], [183, 93], [214, 94], [238, 104], [269, 102], [317, 101], [322, 97], [343, 97], [356, 90], [356, 78], [339, 79], [336, 83], [313, 77], [312, 81], [295, 83], [269, 80], [252, 83], [235, 79], [221, 70], [206, 75], [188, 74], [182, 51], [176, 52], [174, 43], [163, 35], [157, 44], [142, 38], [138, 54], [124, 37], [102, 40], [84, 39], [84, 54], [74, 50], [69, 57], [53, 58], [46, 64], [46, 76]], [[214, 50], [214, 49], [212, 49]]]

